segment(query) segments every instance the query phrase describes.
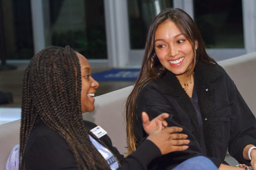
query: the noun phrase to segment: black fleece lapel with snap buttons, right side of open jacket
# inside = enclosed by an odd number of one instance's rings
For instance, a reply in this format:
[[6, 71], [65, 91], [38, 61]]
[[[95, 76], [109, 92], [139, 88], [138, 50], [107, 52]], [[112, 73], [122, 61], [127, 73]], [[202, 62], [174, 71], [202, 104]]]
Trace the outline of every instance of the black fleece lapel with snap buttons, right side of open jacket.
[[[198, 74], [196, 74], [198, 72]], [[215, 88], [213, 82], [223, 76], [216, 65], [199, 62], [195, 68], [197, 97], [203, 120], [203, 135], [207, 156], [214, 157], [215, 146]]]

